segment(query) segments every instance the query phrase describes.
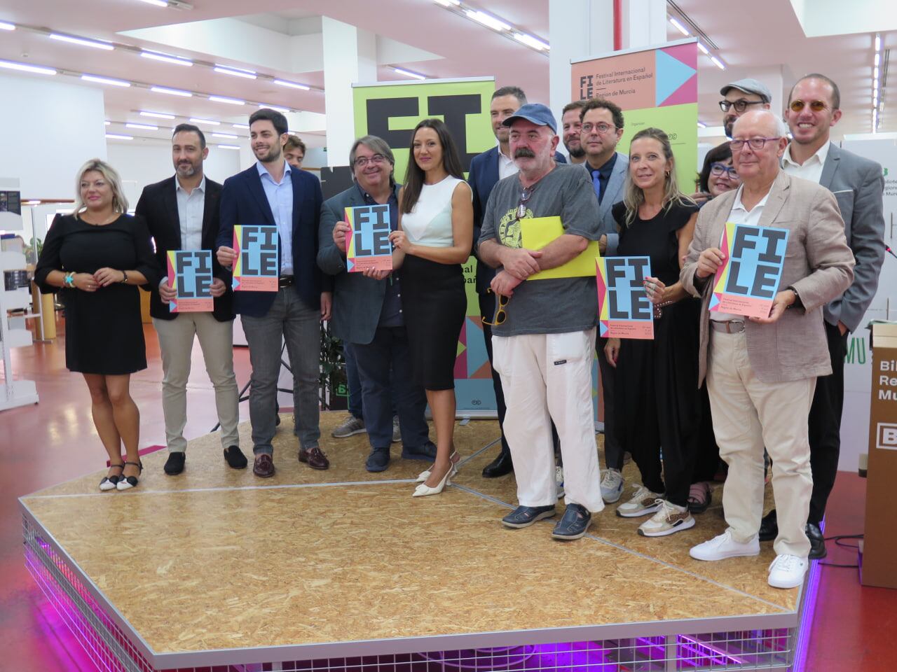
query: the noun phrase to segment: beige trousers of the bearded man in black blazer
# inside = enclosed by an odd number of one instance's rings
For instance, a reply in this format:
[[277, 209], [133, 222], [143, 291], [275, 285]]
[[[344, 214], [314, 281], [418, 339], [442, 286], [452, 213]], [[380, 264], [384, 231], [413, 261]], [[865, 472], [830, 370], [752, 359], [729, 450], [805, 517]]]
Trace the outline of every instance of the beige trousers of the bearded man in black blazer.
[[174, 320], [152, 319], [162, 354], [162, 413], [171, 452], [187, 450], [187, 379], [194, 334], [203, 350], [205, 370], [215, 390], [222, 447], [239, 445], [239, 392], [233, 373], [233, 321], [218, 322], [211, 313], [181, 313]]

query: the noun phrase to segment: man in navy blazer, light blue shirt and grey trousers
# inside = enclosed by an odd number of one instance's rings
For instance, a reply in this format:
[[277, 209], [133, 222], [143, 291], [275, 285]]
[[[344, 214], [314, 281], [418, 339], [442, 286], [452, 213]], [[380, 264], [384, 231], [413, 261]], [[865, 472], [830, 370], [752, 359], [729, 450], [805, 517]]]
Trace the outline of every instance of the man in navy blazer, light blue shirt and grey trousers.
[[330, 280], [322, 280], [316, 263], [321, 185], [317, 177], [291, 168], [283, 159], [286, 117], [262, 108], [249, 117], [249, 136], [257, 163], [224, 181], [218, 261], [228, 270], [236, 259], [233, 228], [237, 224], [277, 227], [280, 245], [279, 289], [239, 291], [234, 310], [240, 314], [252, 364], [249, 420], [255, 453], [253, 472], [274, 476], [277, 377], [286, 341], [293, 379], [293, 415], [299, 436], [299, 461], [327, 469], [318, 440], [318, 371], [320, 321], [330, 316]]

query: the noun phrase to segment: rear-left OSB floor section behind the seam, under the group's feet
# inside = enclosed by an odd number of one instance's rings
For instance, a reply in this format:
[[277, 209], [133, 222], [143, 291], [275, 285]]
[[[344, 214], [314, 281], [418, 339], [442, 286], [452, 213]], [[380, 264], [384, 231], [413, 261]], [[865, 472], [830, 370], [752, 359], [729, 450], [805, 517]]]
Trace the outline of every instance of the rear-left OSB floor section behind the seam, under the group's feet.
[[[321, 413], [321, 449], [330, 460], [330, 469], [316, 471], [297, 460], [299, 439], [292, 434], [292, 414], [281, 415], [281, 424], [274, 435], [274, 466], [272, 478], [257, 478], [252, 473], [252, 439], [248, 421], [239, 424], [240, 446], [249, 464], [245, 470], [232, 470], [224, 462], [222, 445], [217, 433], [200, 436], [187, 444], [187, 463], [178, 476], [166, 476], [162, 465], [168, 459], [165, 450], [144, 455], [144, 473], [139, 488], [143, 491], [175, 491], [208, 487], [254, 487], [278, 486], [296, 483], [349, 483], [368, 480], [390, 480], [417, 478], [429, 464], [426, 461], [402, 460], [402, 444], [392, 444], [392, 460], [386, 471], [370, 473], [364, 469], [364, 461], [370, 453], [367, 434], [357, 434], [343, 439], [335, 439], [330, 433], [345, 418], [344, 411]], [[466, 425], [456, 423], [455, 445], [462, 456], [469, 456], [484, 445], [499, 438], [498, 423], [494, 420], [471, 420]], [[435, 441], [436, 431], [430, 430]], [[97, 464], [105, 465], [106, 455], [97, 445]], [[92, 474], [74, 478], [57, 486], [48, 487], [34, 495], [80, 495], [99, 493], [100, 478], [106, 475], [103, 468]], [[117, 493], [118, 494], [118, 493]]]

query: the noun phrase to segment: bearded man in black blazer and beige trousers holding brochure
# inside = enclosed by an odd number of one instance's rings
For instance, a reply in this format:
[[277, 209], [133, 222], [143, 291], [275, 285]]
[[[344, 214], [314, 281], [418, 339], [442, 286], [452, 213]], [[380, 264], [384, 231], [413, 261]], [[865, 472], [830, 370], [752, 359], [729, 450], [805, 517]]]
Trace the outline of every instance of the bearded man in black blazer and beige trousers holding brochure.
[[[175, 175], [144, 187], [136, 213], [146, 220], [155, 241], [156, 259], [162, 272], [168, 268], [169, 250], [215, 249], [218, 237], [218, 206], [222, 185], [205, 177], [203, 161], [209, 150], [205, 135], [195, 125], [175, 127], [171, 137], [171, 156]], [[228, 273], [212, 259], [214, 280], [211, 313], [172, 313], [169, 303], [175, 298], [170, 278], [162, 278], [152, 288], [150, 314], [159, 334], [162, 356], [162, 414], [169, 457], [165, 473], [170, 476], [184, 470], [187, 440], [187, 378], [194, 336], [199, 337], [205, 370], [215, 390], [215, 408], [221, 425], [224, 459], [233, 469], [244, 469], [246, 456], [239, 450], [239, 392], [233, 373], [233, 293]]]

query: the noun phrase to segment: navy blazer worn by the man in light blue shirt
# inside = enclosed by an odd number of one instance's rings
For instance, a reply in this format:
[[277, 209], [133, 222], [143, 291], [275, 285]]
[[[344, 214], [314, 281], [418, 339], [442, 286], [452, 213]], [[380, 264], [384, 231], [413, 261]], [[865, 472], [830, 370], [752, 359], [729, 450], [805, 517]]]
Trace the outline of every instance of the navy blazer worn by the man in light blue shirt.
[[[321, 183], [306, 170], [292, 168], [292, 272], [293, 287], [309, 308], [319, 308], [321, 292], [333, 290], [333, 279], [322, 278], [318, 268], [318, 222], [321, 218]], [[221, 228], [215, 249], [233, 246], [236, 224], [274, 225], [257, 164], [224, 180]], [[239, 314], [263, 317], [274, 303], [275, 292], [234, 292], [233, 307]]]

